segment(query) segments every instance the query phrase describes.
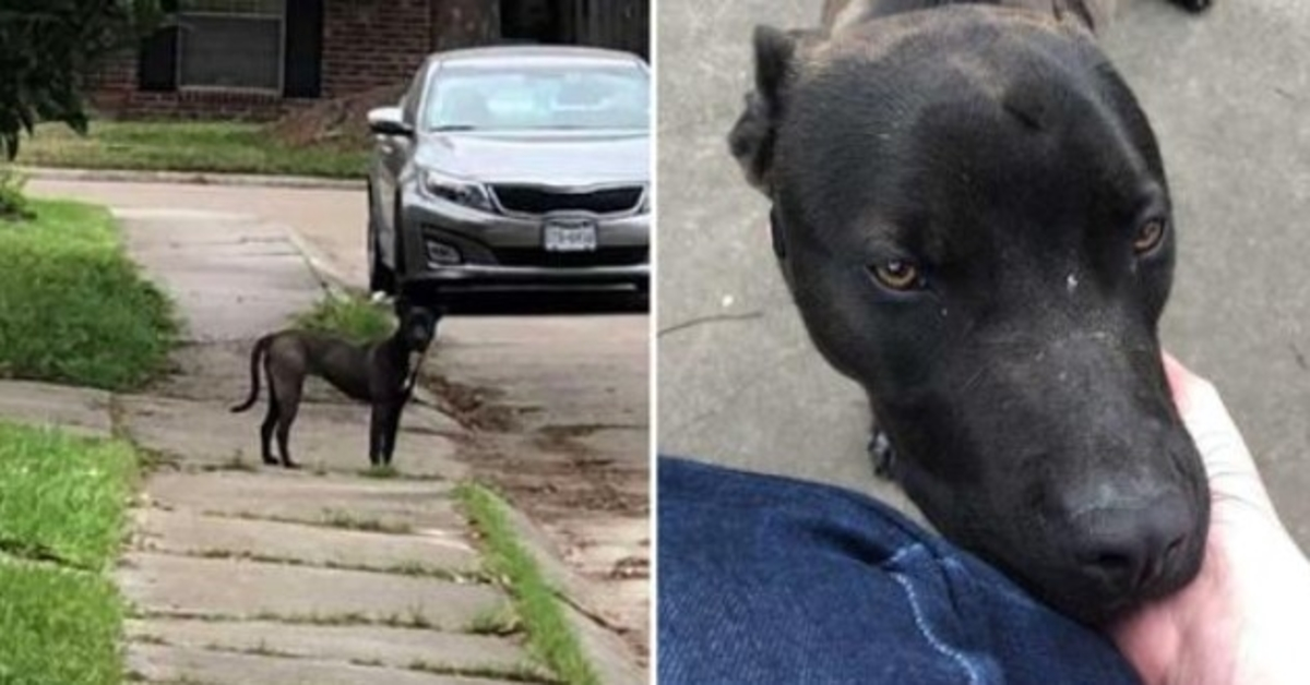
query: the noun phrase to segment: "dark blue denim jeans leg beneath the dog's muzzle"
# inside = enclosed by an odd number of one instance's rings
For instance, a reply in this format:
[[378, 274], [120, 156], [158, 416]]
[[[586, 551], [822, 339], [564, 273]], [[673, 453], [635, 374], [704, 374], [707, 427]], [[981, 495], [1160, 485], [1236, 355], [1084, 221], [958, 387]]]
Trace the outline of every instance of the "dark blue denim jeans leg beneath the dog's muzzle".
[[659, 682], [1136, 684], [1100, 634], [863, 495], [659, 462]]

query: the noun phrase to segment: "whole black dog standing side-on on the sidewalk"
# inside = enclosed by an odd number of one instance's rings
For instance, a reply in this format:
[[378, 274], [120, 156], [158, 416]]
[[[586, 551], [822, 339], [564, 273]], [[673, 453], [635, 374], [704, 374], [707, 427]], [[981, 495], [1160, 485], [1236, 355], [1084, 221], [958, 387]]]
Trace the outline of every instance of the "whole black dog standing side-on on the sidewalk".
[[396, 431], [401, 411], [409, 401], [418, 373], [415, 355], [427, 351], [436, 334], [436, 316], [426, 309], [410, 309], [390, 338], [359, 347], [333, 335], [287, 330], [259, 338], [250, 351], [250, 396], [232, 407], [240, 413], [254, 406], [259, 397], [259, 360], [269, 377], [269, 413], [259, 426], [259, 448], [263, 462], [276, 465], [271, 440], [278, 435], [282, 465], [297, 468], [287, 449], [287, 436], [300, 409], [305, 376], [326, 379], [354, 399], [373, 407], [368, 431], [368, 461], [375, 466], [389, 465], [396, 451]]

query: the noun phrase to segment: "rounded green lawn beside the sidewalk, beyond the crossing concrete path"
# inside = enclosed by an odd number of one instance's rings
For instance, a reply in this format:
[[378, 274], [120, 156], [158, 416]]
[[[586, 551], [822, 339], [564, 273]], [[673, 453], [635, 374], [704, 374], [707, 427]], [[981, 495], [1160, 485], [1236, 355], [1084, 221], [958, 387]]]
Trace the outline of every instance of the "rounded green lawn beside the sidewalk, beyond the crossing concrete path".
[[31, 200], [0, 220], [0, 377], [144, 385], [173, 347], [168, 299], [123, 253], [109, 211]]

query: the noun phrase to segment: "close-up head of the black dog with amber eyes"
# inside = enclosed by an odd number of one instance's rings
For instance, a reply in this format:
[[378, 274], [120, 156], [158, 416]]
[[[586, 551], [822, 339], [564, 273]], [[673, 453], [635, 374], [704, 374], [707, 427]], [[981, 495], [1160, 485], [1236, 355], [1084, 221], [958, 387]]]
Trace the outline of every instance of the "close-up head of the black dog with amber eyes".
[[1155, 333], [1169, 187], [1091, 35], [956, 7], [755, 47], [732, 151], [916, 504], [1085, 622], [1188, 582], [1209, 495]]

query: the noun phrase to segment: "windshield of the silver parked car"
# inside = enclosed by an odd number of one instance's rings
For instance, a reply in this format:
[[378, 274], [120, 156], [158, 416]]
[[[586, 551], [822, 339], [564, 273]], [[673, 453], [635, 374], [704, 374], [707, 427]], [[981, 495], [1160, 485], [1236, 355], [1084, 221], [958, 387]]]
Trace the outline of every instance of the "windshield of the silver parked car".
[[447, 64], [431, 88], [431, 131], [650, 127], [650, 80], [635, 64]]

